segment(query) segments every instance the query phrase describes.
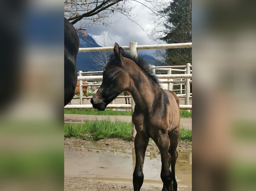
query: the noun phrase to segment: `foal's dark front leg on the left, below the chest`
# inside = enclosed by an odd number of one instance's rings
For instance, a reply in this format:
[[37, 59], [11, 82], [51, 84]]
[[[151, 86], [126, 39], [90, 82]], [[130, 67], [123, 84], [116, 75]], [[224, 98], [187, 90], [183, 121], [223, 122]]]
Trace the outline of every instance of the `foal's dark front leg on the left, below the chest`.
[[134, 191], [139, 191], [144, 179], [143, 163], [145, 158], [145, 152], [148, 145], [148, 136], [141, 131], [137, 131], [134, 140], [136, 164], [133, 172], [133, 188]]

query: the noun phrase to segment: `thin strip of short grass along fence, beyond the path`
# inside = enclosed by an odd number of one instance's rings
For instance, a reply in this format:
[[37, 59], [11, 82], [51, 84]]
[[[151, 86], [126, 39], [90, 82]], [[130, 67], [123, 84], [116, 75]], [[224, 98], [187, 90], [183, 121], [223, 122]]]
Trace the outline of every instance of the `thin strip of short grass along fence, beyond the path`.
[[[180, 117], [192, 117], [192, 111], [180, 110]], [[83, 114], [83, 115], [132, 115], [131, 111], [117, 111], [112, 109], [105, 109], [99, 111], [97, 109], [64, 109], [65, 114]]]

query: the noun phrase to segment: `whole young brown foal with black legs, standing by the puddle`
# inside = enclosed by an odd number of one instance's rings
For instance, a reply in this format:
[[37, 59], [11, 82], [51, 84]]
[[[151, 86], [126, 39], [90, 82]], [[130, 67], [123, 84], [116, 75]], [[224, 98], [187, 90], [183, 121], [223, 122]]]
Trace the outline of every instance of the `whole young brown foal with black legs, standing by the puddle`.
[[[180, 133], [179, 98], [175, 93], [160, 88], [156, 76], [143, 58], [133, 58], [117, 43], [114, 54], [103, 72], [103, 81], [92, 97], [94, 108], [104, 110], [121, 92], [128, 90], [134, 98], [132, 121], [137, 134], [134, 140], [136, 164], [133, 172], [133, 187], [140, 190], [145, 151], [151, 137], [161, 154], [161, 179], [163, 189], [177, 191], [175, 179], [176, 151]], [[150, 96], [149, 96], [150, 95]], [[171, 171], [170, 171], [171, 166]]]

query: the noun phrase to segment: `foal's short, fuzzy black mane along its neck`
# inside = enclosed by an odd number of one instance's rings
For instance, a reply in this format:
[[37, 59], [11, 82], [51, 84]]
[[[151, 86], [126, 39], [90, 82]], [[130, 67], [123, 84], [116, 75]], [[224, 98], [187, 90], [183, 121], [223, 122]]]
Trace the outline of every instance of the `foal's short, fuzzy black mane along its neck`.
[[[138, 57], [131, 56], [131, 55], [129, 54], [129, 52], [124, 51], [124, 50], [122, 49], [122, 47], [120, 47], [120, 51], [121, 51], [121, 54], [122, 54], [123, 57], [128, 58], [128, 59], [132, 60], [133, 62], [135, 62], [135, 64], [137, 64], [138, 67], [140, 67], [140, 68], [142, 69], [142, 71], [143, 71], [150, 79], [152, 79], [153, 82], [154, 82], [157, 86], [160, 87], [160, 84], [159, 84], [159, 81], [158, 81], [156, 75], [152, 72], [152, 70], [150, 69], [149, 64], [146, 63], [146, 61], [145, 61], [144, 58], [142, 58], [141, 56], [138, 56]], [[114, 59], [114, 57], [115, 57], [115, 56], [114, 56], [114, 53], [111, 53], [111, 54], [109, 55], [110, 60]]]

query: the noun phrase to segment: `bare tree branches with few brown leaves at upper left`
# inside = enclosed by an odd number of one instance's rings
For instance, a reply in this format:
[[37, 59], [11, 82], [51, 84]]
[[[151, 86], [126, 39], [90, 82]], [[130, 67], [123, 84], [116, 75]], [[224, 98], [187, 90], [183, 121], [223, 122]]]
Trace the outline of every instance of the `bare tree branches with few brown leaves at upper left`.
[[[151, 1], [155, 0], [146, 0], [146, 2]], [[110, 20], [110, 18], [115, 13], [120, 13], [145, 31], [142, 24], [135, 20], [136, 15], [132, 13], [132, 9], [140, 6], [139, 4], [153, 12], [149, 6], [138, 0], [65, 0], [64, 15], [73, 25], [79, 21], [86, 20], [86, 22], [82, 22], [81, 27], [82, 29], [88, 28], [90, 30], [95, 24], [111, 26], [115, 23], [115, 20]], [[79, 30], [82, 30], [81, 27]]]

